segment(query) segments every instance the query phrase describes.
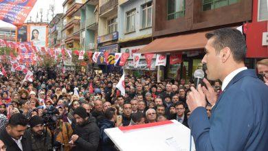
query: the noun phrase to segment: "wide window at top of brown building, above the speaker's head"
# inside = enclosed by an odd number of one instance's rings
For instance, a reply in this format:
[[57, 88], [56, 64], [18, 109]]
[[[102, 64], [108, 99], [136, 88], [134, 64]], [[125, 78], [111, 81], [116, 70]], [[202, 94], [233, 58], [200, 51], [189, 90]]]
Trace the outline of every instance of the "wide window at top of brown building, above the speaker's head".
[[233, 3], [238, 3], [240, 0], [203, 0], [203, 11], [213, 10], [216, 8], [221, 8], [225, 5], [231, 5]]

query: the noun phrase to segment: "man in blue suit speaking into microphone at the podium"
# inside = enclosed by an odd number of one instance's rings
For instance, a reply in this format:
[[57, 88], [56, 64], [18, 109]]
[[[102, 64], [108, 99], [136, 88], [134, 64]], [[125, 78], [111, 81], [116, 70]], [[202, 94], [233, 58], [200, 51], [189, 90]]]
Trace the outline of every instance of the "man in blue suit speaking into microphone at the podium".
[[[245, 38], [241, 32], [223, 28], [205, 35], [205, 73], [221, 80], [218, 99], [208, 80], [198, 90], [191, 87], [187, 104], [192, 111], [190, 126], [197, 150], [268, 150], [268, 87], [247, 69]], [[212, 104], [208, 119], [205, 97]]]

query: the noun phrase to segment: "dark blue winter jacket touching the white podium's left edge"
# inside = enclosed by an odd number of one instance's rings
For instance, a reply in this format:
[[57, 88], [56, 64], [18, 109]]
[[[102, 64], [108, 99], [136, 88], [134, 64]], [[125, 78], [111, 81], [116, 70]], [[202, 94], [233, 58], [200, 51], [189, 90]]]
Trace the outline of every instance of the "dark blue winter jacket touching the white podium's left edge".
[[111, 139], [107, 136], [107, 134], [104, 132], [106, 128], [114, 128], [114, 122], [109, 121], [108, 119], [103, 119], [99, 122], [99, 128], [100, 128], [100, 146], [102, 148], [102, 151], [113, 151], [114, 143], [111, 141]]

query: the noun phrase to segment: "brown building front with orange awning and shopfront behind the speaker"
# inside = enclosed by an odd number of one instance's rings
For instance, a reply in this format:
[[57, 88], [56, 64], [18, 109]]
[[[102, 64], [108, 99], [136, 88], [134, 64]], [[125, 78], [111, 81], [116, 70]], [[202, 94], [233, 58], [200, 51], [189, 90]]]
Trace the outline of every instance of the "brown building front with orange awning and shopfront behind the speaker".
[[[252, 0], [153, 0], [153, 4], [154, 40], [139, 52], [167, 54], [166, 67], [158, 68], [158, 80], [192, 80], [194, 70], [202, 67], [205, 34], [252, 20]], [[171, 55], [180, 56], [181, 63], [170, 65]]]

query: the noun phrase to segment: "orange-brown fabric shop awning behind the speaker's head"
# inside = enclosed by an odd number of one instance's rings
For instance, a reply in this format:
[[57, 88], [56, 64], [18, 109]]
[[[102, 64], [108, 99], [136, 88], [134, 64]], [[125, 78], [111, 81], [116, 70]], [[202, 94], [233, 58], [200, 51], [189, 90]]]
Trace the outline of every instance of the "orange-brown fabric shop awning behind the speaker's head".
[[139, 49], [137, 53], [168, 53], [203, 49], [207, 43], [205, 34], [208, 32], [211, 31], [157, 38], [152, 43], [146, 45], [146, 47]]

